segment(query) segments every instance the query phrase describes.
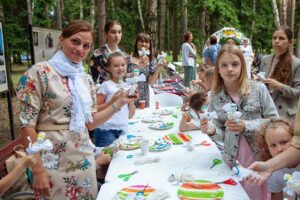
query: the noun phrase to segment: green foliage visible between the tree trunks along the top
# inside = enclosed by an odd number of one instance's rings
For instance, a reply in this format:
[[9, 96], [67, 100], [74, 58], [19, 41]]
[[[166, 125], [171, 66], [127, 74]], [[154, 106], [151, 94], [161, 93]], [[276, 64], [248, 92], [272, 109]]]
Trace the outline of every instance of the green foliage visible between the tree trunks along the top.
[[[80, 2], [83, 6], [83, 19], [89, 21], [90, 0], [63, 0], [64, 11], [63, 26], [68, 22], [79, 19]], [[95, 1], [97, 2], [97, 1]], [[140, 0], [142, 15], [145, 23], [146, 0]], [[188, 30], [194, 35], [194, 43], [201, 51], [204, 42], [214, 32], [221, 28], [234, 27], [244, 33], [247, 37], [252, 34], [251, 44], [256, 51], [267, 53], [272, 49], [272, 33], [275, 28], [274, 16], [270, 0], [256, 0], [256, 11], [253, 12], [254, 0], [188, 0]], [[19, 62], [21, 53], [29, 52], [29, 33], [27, 27], [26, 1], [1, 0], [5, 17], [5, 33], [10, 55], [15, 56], [15, 61]], [[34, 26], [46, 28], [57, 28], [56, 4], [57, 0], [31, 0], [32, 21]], [[160, 23], [160, 1], [158, 3], [158, 24]], [[180, 49], [183, 35], [183, 0], [167, 0], [166, 15], [166, 49], [172, 46], [174, 36]], [[172, 10], [176, 9], [176, 21], [178, 30], [172, 32]], [[200, 30], [203, 23], [202, 12], [205, 11], [205, 30]], [[96, 27], [97, 26], [97, 5], [95, 5]], [[133, 51], [135, 36], [142, 32], [140, 16], [138, 13], [137, 0], [106, 0], [106, 20], [116, 19], [121, 22], [123, 28], [123, 38], [121, 48], [128, 53]], [[252, 28], [252, 22], [254, 27]], [[295, 35], [300, 26], [300, 1], [296, 1], [295, 12]], [[159, 30], [158, 30], [159, 33]], [[97, 34], [96, 34], [97, 35]], [[97, 43], [96, 43], [97, 44]], [[170, 50], [170, 49], [169, 49]]]

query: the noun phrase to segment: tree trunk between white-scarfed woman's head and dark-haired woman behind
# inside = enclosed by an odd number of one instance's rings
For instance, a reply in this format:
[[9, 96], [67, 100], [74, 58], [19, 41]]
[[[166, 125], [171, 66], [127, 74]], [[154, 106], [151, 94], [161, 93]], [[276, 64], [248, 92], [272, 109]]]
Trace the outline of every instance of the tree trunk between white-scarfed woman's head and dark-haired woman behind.
[[98, 37], [99, 37], [99, 46], [105, 44], [105, 35], [104, 35], [104, 26], [106, 23], [106, 12], [105, 12], [105, 0], [97, 0], [98, 7]]

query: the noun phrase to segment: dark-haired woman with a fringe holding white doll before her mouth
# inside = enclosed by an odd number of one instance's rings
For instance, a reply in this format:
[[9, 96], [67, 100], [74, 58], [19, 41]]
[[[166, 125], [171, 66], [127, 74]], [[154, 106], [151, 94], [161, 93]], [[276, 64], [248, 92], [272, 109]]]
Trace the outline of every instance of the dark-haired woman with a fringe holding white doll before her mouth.
[[[152, 52], [150, 35], [139, 33], [134, 44], [134, 51], [130, 59], [132, 67], [140, 70], [138, 82], [139, 100], [146, 101], [146, 107], [150, 106], [149, 85], [156, 83], [160, 70], [166, 64], [165, 61], [157, 63]], [[129, 67], [129, 66], [128, 66]], [[128, 71], [128, 68], [127, 68]], [[144, 78], [141, 78], [143, 76]], [[139, 102], [137, 102], [138, 104]]]

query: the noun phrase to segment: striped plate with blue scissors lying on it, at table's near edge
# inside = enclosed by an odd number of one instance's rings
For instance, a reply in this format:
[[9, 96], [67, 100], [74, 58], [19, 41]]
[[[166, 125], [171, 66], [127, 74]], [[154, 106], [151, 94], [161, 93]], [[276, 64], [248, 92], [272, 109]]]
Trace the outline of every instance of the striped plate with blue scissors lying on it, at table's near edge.
[[[146, 197], [151, 194], [152, 192], [156, 191], [153, 187], [150, 187], [149, 185], [133, 185], [126, 188], [123, 188], [121, 191], [119, 191], [116, 195], [117, 200], [126, 200], [126, 199], [132, 199], [136, 200], [137, 196], [144, 197], [143, 199], [146, 199]], [[130, 198], [132, 197], [132, 198]]]

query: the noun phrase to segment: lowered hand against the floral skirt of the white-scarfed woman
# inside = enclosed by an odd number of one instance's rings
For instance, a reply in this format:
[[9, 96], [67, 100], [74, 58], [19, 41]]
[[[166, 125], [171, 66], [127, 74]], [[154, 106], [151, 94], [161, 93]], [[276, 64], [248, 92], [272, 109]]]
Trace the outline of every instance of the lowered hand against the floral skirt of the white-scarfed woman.
[[50, 196], [50, 181], [44, 167], [40, 167], [38, 171], [33, 171], [32, 187], [36, 199], [40, 199], [41, 197], [47, 198]]

